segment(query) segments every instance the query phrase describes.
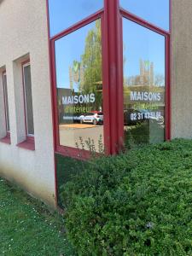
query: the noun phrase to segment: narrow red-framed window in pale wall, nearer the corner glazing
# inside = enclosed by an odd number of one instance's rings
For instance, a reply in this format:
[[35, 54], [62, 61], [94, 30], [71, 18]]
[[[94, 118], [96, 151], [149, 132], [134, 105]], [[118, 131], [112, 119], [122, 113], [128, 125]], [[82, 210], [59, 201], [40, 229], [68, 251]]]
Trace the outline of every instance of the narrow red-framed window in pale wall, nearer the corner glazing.
[[32, 79], [30, 62], [22, 65], [23, 90], [25, 103], [26, 137], [34, 137], [33, 110], [32, 110]]

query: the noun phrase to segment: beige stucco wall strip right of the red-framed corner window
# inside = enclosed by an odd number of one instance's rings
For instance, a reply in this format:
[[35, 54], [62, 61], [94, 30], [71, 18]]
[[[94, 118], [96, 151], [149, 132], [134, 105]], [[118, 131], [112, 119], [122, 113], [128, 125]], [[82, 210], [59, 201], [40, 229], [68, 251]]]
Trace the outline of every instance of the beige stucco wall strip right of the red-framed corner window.
[[172, 0], [172, 138], [192, 137], [192, 1]]

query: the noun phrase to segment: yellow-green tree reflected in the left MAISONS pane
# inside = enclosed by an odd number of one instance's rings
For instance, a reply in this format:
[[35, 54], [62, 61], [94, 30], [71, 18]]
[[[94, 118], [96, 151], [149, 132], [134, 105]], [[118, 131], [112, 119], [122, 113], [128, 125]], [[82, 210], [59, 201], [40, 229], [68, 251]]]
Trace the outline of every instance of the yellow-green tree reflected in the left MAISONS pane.
[[[102, 107], [102, 32], [101, 20], [96, 20], [84, 44], [80, 61], [73, 61], [73, 81], [79, 84], [79, 93], [96, 95], [96, 110]], [[71, 82], [72, 83], [72, 82]], [[72, 87], [72, 86], [71, 86]]]

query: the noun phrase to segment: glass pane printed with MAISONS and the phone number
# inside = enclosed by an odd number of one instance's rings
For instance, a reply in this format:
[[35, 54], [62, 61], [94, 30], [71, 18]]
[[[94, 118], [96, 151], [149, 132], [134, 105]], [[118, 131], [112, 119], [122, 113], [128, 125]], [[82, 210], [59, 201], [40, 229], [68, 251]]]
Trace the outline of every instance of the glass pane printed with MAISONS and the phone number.
[[123, 20], [125, 144], [159, 143], [165, 133], [165, 38]]

